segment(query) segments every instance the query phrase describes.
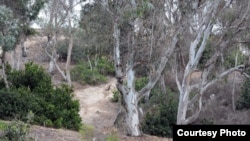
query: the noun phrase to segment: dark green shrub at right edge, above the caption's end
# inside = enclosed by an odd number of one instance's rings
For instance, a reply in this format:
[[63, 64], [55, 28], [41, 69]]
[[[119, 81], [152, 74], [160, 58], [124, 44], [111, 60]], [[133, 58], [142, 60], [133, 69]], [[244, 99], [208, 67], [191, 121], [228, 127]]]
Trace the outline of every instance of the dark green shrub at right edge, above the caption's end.
[[236, 109], [249, 109], [250, 108], [250, 80], [245, 80], [241, 88], [241, 97], [238, 99]]

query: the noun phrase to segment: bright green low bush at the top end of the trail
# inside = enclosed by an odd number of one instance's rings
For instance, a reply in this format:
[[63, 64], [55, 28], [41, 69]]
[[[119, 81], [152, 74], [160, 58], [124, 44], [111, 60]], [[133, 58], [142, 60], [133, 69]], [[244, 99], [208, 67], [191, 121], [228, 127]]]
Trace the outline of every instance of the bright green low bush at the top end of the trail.
[[87, 63], [76, 65], [71, 71], [72, 80], [79, 81], [82, 84], [96, 85], [104, 83], [107, 78], [100, 74], [97, 68], [90, 69]]

